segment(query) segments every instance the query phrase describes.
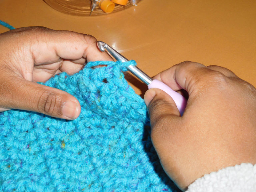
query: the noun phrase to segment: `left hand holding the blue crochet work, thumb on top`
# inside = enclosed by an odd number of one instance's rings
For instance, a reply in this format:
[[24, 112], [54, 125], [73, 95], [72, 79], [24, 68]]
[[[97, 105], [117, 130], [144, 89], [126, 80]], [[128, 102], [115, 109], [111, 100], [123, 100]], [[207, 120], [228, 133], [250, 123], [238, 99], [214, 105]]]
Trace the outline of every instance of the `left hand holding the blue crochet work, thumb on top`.
[[0, 34], [0, 112], [22, 109], [75, 119], [81, 107], [72, 95], [36, 82], [74, 74], [86, 62], [112, 60], [91, 35], [25, 27]]

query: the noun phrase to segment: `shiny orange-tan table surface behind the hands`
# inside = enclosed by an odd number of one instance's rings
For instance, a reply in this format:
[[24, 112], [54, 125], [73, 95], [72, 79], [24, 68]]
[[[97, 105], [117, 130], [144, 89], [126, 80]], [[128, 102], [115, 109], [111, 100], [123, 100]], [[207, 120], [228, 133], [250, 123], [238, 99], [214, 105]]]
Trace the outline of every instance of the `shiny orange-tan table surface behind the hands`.
[[[0, 20], [91, 34], [149, 76], [184, 60], [220, 65], [256, 86], [256, 1], [142, 0], [100, 16], [56, 11], [43, 0], [0, 0]], [[8, 31], [0, 26], [0, 33]], [[136, 93], [146, 86], [127, 77]]]

